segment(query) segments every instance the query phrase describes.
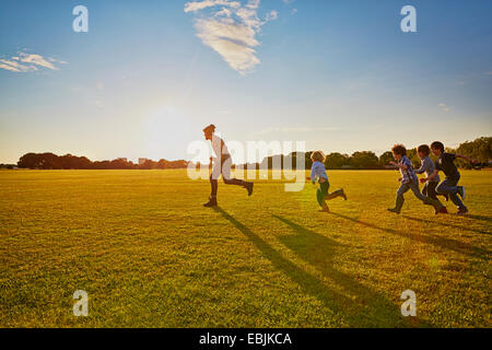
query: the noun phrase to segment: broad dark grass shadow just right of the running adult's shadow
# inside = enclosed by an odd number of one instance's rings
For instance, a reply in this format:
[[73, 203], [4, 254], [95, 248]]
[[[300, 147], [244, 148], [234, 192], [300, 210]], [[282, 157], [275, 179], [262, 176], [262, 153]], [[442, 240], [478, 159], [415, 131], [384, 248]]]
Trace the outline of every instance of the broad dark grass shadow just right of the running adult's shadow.
[[[365, 306], [362, 308], [362, 312], [366, 313], [367, 317], [376, 320], [377, 324], [401, 324], [398, 305], [335, 267], [332, 258], [337, 250], [345, 245], [280, 215], [273, 215], [273, 218], [289, 225], [295, 233], [294, 235], [282, 236], [279, 241], [294, 252], [301, 259], [311, 264], [324, 276], [330, 278], [349, 294], [355, 295], [356, 301]], [[430, 326], [420, 318], [413, 318], [412, 324], [413, 326]]]

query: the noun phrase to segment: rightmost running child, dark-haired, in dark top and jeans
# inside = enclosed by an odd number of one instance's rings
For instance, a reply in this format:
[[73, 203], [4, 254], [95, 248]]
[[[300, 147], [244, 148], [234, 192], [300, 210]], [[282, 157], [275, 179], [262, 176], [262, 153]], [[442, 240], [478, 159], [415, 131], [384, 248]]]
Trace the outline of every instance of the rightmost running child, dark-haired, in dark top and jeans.
[[[455, 165], [455, 160], [457, 158], [461, 158], [472, 164], [475, 164], [477, 161], [469, 158], [468, 155], [444, 152], [444, 144], [440, 141], [432, 142], [431, 150], [434, 155], [438, 156], [435, 163], [436, 170], [424, 180], [434, 180], [438, 172], [442, 171], [446, 178], [440, 185], [437, 185], [435, 190], [438, 194], [449, 195], [450, 200], [458, 208], [458, 214], [467, 214], [468, 209], [462, 203], [462, 199], [465, 199], [465, 187], [458, 186], [458, 182], [461, 175], [459, 174], [458, 168]], [[459, 199], [458, 195], [461, 197], [461, 199]]]

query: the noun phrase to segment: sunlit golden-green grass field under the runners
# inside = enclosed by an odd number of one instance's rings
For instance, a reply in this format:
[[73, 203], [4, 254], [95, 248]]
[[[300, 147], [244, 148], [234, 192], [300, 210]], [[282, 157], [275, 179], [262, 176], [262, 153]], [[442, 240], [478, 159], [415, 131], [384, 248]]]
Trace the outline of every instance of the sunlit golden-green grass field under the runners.
[[221, 182], [213, 210], [185, 171], [2, 171], [0, 326], [492, 326], [492, 172], [462, 172], [467, 217], [410, 192], [387, 212], [396, 172], [328, 175], [349, 196], [332, 213], [311, 184], [257, 180], [248, 198]]

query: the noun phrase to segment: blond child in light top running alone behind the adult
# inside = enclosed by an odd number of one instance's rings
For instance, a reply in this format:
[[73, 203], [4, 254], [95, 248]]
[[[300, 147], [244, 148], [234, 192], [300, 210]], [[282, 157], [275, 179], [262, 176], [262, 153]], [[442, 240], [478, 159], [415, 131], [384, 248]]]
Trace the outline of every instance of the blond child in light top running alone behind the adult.
[[315, 151], [311, 155], [311, 159], [313, 161], [313, 166], [311, 168], [311, 180], [313, 182], [313, 185], [316, 184], [316, 179], [318, 179], [319, 183], [319, 188], [316, 191], [316, 199], [318, 200], [318, 203], [321, 207], [319, 211], [330, 212], [326, 201], [333, 199], [336, 197], [343, 197], [343, 199], [347, 200], [347, 195], [342, 188], [337, 189], [332, 194], [328, 194], [330, 183], [328, 182], [328, 175], [326, 174], [326, 168], [324, 164], [326, 159], [325, 153], [323, 153], [321, 151]]

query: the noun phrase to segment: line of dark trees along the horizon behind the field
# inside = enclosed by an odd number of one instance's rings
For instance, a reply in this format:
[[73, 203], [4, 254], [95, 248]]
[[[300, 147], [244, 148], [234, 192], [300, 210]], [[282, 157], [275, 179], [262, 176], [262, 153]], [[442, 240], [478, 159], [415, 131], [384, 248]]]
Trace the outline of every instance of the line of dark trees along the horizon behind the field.
[[[447, 152], [460, 153], [471, 156], [485, 166], [490, 165], [492, 160], [492, 138], [482, 137], [475, 141], [466, 141], [459, 144], [456, 149], [446, 149]], [[304, 159], [304, 165], [306, 168], [311, 168], [313, 165], [311, 161], [311, 154], [313, 152], [305, 152], [300, 155]], [[415, 167], [420, 166], [419, 155], [415, 148], [407, 150], [408, 158], [412, 161]], [[435, 161], [434, 155], [431, 158]], [[284, 164], [292, 164], [292, 167], [296, 167], [297, 153], [293, 152], [288, 155], [278, 154], [267, 156], [261, 163], [242, 164], [237, 165], [249, 168], [283, 168]], [[372, 151], [358, 151], [349, 154], [342, 153], [329, 153], [325, 160], [325, 166], [331, 170], [340, 168], [355, 168], [355, 170], [377, 170], [384, 168], [390, 161], [393, 161], [393, 154], [390, 151], [377, 156]], [[471, 164], [457, 160], [457, 165], [464, 168], [471, 168]], [[113, 161], [95, 161], [92, 162], [85, 156], [77, 156], [71, 154], [56, 155], [54, 153], [26, 153], [17, 162], [17, 166], [21, 168], [42, 168], [42, 170], [152, 170], [152, 168], [186, 168], [189, 162], [185, 160], [167, 161], [165, 159], [154, 162], [147, 160], [142, 164], [136, 164], [126, 159], [116, 159]], [[199, 164], [196, 164], [199, 166]]]

